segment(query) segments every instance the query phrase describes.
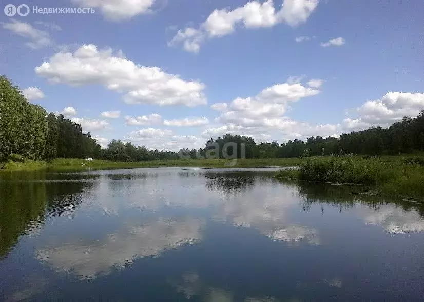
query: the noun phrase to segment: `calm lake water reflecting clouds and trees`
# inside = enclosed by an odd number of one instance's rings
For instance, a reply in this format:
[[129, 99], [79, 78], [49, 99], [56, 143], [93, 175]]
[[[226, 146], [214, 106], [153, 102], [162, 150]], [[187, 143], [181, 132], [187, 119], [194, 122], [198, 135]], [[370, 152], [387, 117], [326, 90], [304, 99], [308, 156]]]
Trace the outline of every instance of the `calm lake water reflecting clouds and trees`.
[[424, 204], [266, 169], [0, 173], [0, 300], [424, 299]]

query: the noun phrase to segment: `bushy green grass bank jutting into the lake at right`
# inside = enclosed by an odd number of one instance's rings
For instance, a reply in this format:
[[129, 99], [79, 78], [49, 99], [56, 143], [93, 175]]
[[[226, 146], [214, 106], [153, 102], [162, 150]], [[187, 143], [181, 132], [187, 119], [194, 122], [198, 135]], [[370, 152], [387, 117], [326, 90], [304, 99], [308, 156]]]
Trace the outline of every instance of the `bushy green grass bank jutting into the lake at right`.
[[281, 170], [277, 178], [296, 178], [312, 182], [350, 183], [374, 186], [385, 194], [424, 196], [422, 158], [390, 156], [313, 157], [299, 169]]

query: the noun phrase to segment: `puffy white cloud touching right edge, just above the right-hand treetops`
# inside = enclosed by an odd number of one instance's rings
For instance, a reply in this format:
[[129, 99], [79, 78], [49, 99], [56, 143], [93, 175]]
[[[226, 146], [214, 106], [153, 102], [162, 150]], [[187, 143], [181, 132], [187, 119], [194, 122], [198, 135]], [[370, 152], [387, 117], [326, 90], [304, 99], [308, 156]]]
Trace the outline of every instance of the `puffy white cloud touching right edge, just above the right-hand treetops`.
[[346, 130], [365, 130], [371, 126], [388, 127], [404, 116], [416, 117], [424, 108], [424, 93], [388, 92], [381, 99], [369, 100], [355, 108], [357, 117], [343, 120]]

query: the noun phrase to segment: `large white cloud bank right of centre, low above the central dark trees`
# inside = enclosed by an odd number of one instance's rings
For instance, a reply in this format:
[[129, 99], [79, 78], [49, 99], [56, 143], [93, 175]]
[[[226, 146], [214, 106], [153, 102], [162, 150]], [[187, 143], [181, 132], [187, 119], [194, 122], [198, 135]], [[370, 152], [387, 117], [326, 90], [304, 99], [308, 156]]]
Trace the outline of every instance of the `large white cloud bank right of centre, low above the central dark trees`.
[[306, 87], [300, 83], [303, 78], [292, 76], [288, 79], [289, 83], [265, 88], [254, 97], [238, 97], [230, 103], [211, 105], [212, 109], [220, 112], [215, 122], [221, 123], [221, 126], [204, 130], [202, 136], [216, 138], [226, 133], [240, 134], [251, 136], [258, 142], [269, 141], [271, 138], [281, 142], [317, 135], [339, 136], [339, 124], [311, 125], [284, 116], [292, 103], [321, 92], [317, 88], [323, 80], [311, 79], [307, 82], [309, 87]]

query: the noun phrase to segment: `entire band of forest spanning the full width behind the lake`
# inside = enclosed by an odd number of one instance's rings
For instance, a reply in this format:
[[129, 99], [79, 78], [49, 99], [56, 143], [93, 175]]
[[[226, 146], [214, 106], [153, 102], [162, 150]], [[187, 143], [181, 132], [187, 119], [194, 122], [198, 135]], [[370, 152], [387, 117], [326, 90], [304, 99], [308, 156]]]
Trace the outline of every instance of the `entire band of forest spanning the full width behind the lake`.
[[[277, 142], [257, 144], [252, 137], [226, 134], [205, 142], [199, 150], [182, 149], [185, 157], [203, 158], [211, 148], [210, 143], [220, 146], [236, 143], [237, 157], [246, 158], [287, 158], [316, 155], [399, 155], [424, 150], [424, 110], [416, 118], [404, 117], [401, 122], [387, 129], [371, 127], [365, 131], [343, 133], [339, 138], [321, 136], [302, 140], [288, 140], [279, 145]], [[242, 148], [241, 144], [245, 144]], [[231, 150], [228, 150], [231, 155]], [[18, 87], [13, 86], [5, 76], [0, 76], [0, 159], [12, 153], [31, 159], [53, 158], [94, 158], [119, 161], [179, 159], [179, 153], [171, 151], [148, 150], [112, 140], [108, 148], [102, 149], [90, 133], [84, 134], [79, 124], [47, 114], [40, 105], [28, 102]], [[223, 157], [222, 152], [219, 157]]]

